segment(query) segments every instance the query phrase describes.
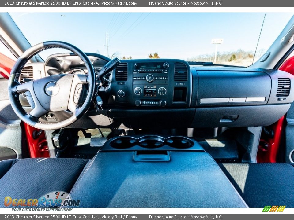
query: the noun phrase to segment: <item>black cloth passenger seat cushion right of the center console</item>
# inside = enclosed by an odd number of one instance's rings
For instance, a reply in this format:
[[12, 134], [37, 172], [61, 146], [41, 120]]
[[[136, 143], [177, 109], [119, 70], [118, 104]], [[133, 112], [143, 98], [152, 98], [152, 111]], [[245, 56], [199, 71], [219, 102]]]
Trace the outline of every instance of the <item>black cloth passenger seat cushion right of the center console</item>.
[[289, 163], [219, 163], [247, 205], [294, 207], [294, 167]]

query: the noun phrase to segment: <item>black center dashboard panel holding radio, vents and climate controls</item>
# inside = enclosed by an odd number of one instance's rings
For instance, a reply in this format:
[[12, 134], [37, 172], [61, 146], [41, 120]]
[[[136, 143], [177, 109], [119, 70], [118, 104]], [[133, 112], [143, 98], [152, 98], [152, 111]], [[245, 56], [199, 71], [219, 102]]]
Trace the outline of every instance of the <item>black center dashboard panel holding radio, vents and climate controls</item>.
[[115, 70], [110, 104], [190, 107], [190, 66], [183, 60], [126, 60]]

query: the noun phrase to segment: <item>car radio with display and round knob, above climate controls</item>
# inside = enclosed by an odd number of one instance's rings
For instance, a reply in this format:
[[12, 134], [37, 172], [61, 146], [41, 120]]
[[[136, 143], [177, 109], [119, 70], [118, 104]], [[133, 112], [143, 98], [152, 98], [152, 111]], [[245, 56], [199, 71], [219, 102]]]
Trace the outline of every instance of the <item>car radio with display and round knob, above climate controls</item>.
[[138, 62], [133, 65], [133, 82], [168, 83], [168, 62]]

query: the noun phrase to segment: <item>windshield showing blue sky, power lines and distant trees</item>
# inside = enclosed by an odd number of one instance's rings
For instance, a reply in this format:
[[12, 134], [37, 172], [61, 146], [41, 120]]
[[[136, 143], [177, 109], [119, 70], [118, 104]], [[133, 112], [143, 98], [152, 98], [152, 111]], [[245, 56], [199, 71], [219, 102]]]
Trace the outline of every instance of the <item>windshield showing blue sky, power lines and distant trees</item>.
[[[60, 40], [110, 58], [175, 58], [249, 66], [274, 42], [293, 13], [10, 15], [31, 45]], [[40, 56], [45, 60], [52, 53], [47, 50]]]

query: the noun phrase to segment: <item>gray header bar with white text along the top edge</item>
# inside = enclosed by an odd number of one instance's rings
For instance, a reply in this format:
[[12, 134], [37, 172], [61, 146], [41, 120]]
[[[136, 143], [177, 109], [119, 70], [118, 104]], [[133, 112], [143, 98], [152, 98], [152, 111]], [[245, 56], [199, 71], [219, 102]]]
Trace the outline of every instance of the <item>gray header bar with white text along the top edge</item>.
[[177, 1], [46, 1], [46, 0], [10, 0], [1, 1], [0, 7], [293, 7], [289, 0], [177, 0]]

